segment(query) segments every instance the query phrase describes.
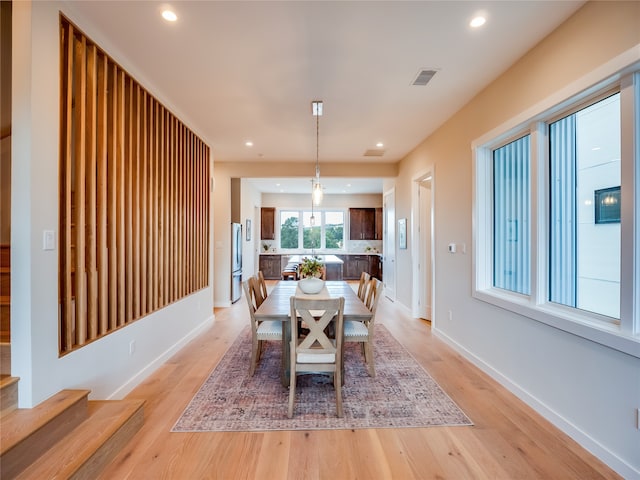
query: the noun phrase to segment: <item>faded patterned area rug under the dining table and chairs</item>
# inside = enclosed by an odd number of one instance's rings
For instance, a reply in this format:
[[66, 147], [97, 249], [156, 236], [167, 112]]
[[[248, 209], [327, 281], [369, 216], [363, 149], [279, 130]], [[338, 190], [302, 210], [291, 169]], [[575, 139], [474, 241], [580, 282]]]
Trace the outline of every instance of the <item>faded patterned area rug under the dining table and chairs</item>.
[[344, 417], [336, 417], [328, 376], [298, 377], [294, 418], [288, 388], [280, 384], [281, 345], [267, 342], [253, 377], [248, 374], [251, 332], [246, 328], [200, 387], [173, 432], [406, 428], [472, 425], [414, 358], [376, 325], [376, 376], [369, 377], [360, 345], [345, 347]]

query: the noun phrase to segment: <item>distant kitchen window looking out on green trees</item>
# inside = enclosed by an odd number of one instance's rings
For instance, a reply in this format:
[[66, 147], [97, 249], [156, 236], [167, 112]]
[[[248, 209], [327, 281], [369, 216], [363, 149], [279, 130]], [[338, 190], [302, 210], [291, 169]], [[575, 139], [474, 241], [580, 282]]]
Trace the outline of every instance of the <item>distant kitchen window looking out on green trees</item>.
[[282, 210], [280, 248], [336, 251], [344, 249], [344, 212]]

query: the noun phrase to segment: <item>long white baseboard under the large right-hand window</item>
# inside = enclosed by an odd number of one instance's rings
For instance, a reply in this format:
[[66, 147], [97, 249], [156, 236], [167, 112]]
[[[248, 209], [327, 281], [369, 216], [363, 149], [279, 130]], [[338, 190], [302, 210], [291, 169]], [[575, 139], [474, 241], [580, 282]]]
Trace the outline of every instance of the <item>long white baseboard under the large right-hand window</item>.
[[536, 412], [542, 415], [545, 419], [550, 421], [554, 426], [562, 430], [569, 435], [572, 439], [578, 442], [583, 448], [595, 455], [602, 462], [606, 463], [610, 468], [615, 470], [623, 478], [637, 478], [640, 479], [640, 470], [637, 470], [632, 465], [625, 462], [622, 458], [618, 457], [615, 453], [609, 450], [606, 446], [602, 445], [596, 439], [582, 431], [579, 427], [571, 423], [564, 418], [558, 412], [551, 409], [544, 402], [530, 394], [527, 390], [523, 389], [520, 385], [513, 382], [508, 377], [504, 376], [501, 372], [493, 368], [491, 365], [485, 363], [481, 358], [474, 355], [467, 350], [464, 346], [453, 340], [447, 334], [432, 328], [432, 332], [441, 340], [445, 341], [454, 350], [460, 353], [463, 357], [473, 363], [480, 370], [485, 372], [500, 385], [505, 387], [511, 393], [516, 395], [520, 400], [533, 408]]

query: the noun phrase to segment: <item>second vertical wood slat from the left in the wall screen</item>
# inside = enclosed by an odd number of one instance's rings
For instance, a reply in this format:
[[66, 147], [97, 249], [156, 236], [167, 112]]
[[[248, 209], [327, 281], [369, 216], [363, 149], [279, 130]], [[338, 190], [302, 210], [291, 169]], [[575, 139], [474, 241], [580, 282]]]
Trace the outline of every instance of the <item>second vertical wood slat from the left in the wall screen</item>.
[[[76, 138], [74, 141], [74, 173], [75, 195], [72, 201], [72, 217], [75, 222], [75, 343], [82, 345], [86, 340], [86, 281], [85, 281], [85, 142], [86, 123], [84, 115], [86, 110], [86, 39], [80, 37], [74, 41], [74, 83], [75, 83], [75, 107], [74, 129]], [[75, 208], [74, 208], [75, 207]], [[75, 215], [74, 211], [75, 210]]]

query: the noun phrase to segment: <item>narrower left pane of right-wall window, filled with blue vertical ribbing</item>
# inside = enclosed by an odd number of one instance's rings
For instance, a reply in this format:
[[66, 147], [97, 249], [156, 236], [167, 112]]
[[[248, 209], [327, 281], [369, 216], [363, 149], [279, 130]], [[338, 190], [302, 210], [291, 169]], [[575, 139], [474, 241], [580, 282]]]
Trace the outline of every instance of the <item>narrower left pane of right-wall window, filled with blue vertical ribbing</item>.
[[493, 285], [530, 293], [529, 136], [493, 151]]

